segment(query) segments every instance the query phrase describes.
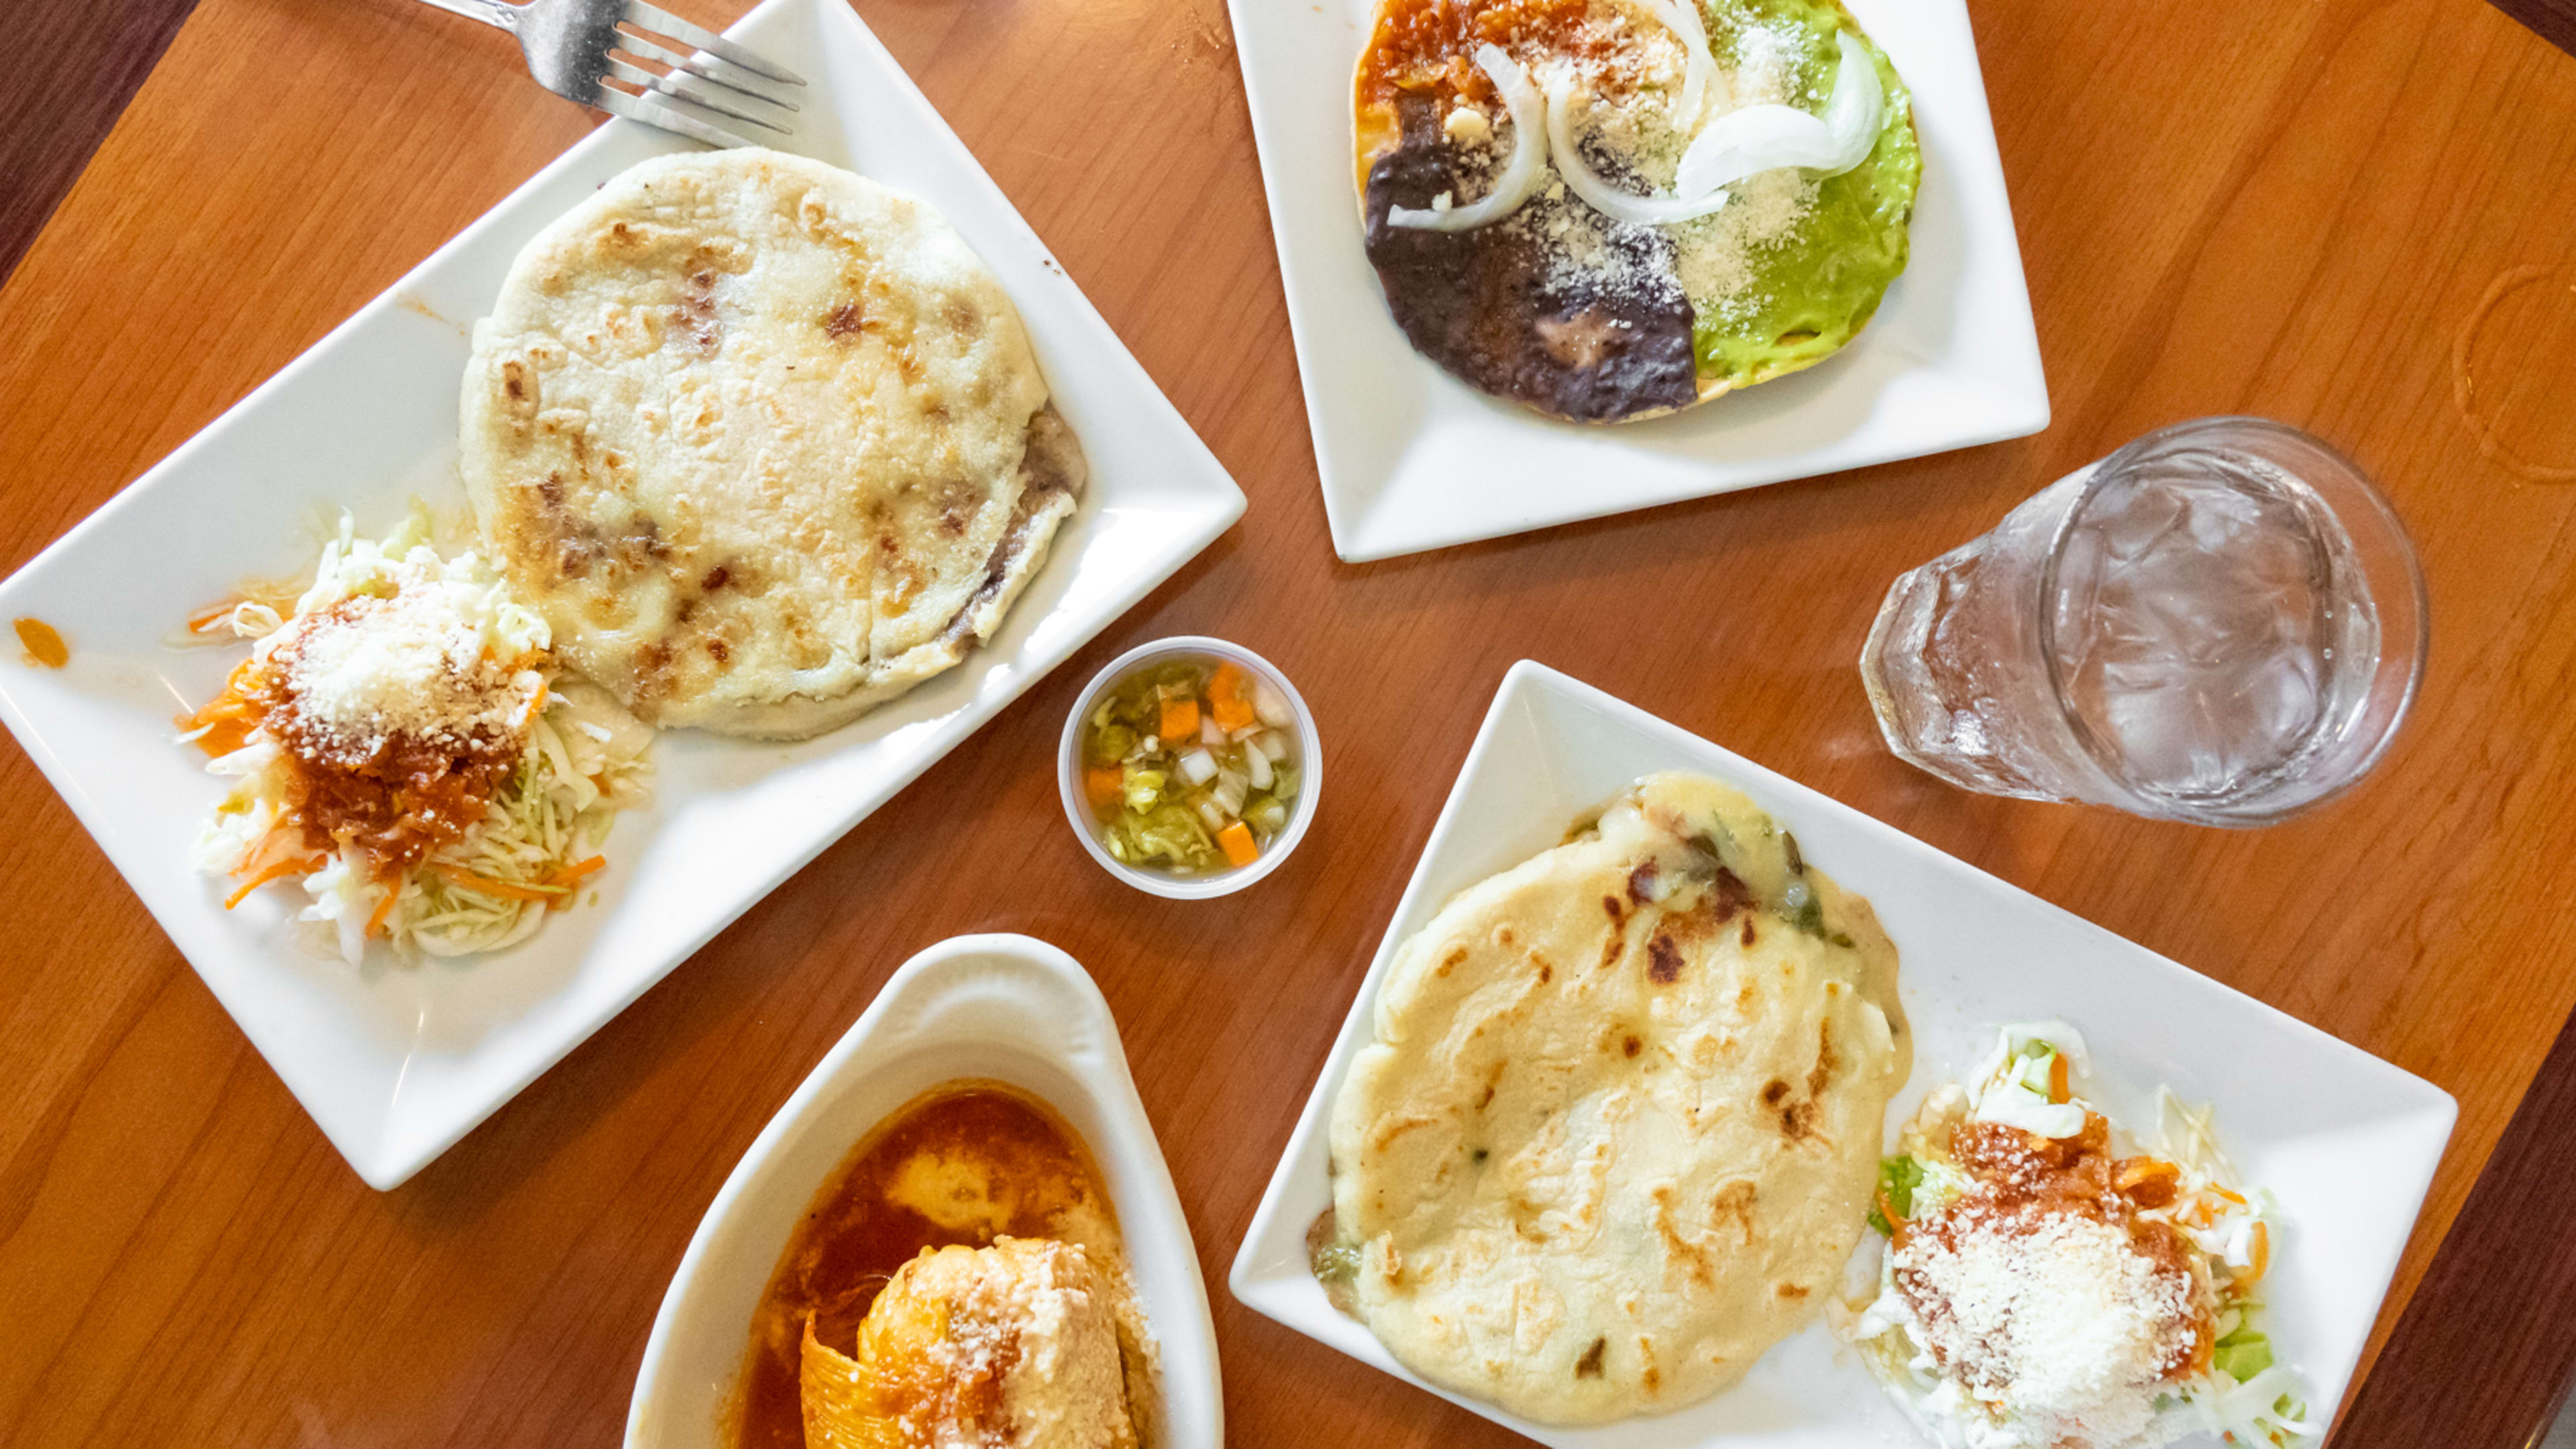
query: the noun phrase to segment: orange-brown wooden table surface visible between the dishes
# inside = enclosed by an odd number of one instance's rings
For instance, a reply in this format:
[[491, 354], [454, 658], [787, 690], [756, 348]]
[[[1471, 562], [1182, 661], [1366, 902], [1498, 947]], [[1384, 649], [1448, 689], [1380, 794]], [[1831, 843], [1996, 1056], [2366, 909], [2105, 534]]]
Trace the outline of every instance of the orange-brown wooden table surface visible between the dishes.
[[[95, 39], [103, 10], [124, 28]], [[26, 34], [67, 59], [15, 70], [0, 266], [185, 10], [33, 0]], [[1978, 0], [2048, 433], [1345, 567], [1221, 0], [860, 10], [1242, 480], [1242, 529], [394, 1194], [0, 750], [0, 1441], [613, 1441], [716, 1183], [886, 972], [961, 931], [1056, 941], [1115, 1006], [1236, 1444], [1512, 1441], [1221, 1279], [1522, 655], [2450, 1088], [2339, 1444], [2540, 1421], [2576, 1356], [2576, 490], [2481, 456], [2455, 340], [2514, 268], [2553, 268], [2491, 309], [2473, 405], [2527, 464], [2576, 464], [2576, 59], [2463, 0]], [[201, 0], [0, 289], [0, 570], [590, 124], [425, 5]], [[2424, 547], [2432, 673], [2367, 786], [2233, 835], [1981, 799], [1880, 748], [1852, 657], [1888, 578], [2143, 428], [2239, 410], [2349, 449]], [[1167, 632], [1265, 650], [1332, 750], [1316, 843], [1226, 905], [1113, 884], [1056, 810], [1072, 688]]]

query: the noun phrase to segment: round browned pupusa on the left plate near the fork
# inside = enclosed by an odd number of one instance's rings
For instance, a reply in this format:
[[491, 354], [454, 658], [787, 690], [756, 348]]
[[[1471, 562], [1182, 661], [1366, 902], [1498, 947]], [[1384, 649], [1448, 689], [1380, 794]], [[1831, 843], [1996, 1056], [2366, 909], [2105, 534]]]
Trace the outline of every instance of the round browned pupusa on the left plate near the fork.
[[567, 663], [804, 737], [956, 665], [1074, 511], [1020, 317], [927, 204], [762, 150], [636, 165], [474, 330], [461, 472]]

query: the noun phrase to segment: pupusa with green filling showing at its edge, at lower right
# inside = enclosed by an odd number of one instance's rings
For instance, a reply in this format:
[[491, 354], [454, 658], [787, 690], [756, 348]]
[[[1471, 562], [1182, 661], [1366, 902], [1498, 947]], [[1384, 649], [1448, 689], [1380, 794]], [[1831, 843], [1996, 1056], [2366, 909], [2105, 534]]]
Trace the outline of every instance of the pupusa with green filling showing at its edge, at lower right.
[[1837, 1284], [1909, 1060], [1870, 905], [1649, 776], [1396, 951], [1332, 1109], [1352, 1305], [1538, 1423], [1708, 1397]]

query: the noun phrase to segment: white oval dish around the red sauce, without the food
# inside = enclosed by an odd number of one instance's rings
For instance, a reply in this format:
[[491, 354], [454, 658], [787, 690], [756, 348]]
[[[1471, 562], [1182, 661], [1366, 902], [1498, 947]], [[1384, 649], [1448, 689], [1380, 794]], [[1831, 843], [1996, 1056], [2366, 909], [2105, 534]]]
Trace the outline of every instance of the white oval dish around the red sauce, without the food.
[[752, 1310], [796, 1220], [871, 1127], [956, 1078], [1018, 1085], [1082, 1132], [1118, 1207], [1136, 1297], [1162, 1346], [1157, 1449], [1226, 1441], [1198, 1248], [1108, 1000], [1079, 962], [1046, 941], [956, 936], [894, 972], [706, 1207], [644, 1343], [626, 1410], [631, 1449], [721, 1444]]

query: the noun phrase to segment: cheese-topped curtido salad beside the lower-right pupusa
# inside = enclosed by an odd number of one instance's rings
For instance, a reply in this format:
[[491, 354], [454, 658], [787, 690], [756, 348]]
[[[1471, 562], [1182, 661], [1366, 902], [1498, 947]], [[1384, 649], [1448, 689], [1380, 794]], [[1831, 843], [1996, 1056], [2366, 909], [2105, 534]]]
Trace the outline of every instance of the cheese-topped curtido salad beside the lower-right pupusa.
[[2311, 1434], [2257, 1328], [2277, 1207], [2210, 1109], [2159, 1088], [2156, 1142], [2087, 1101], [2084, 1036], [2007, 1026], [1880, 1163], [1875, 1297], [1837, 1330], [1945, 1449], [2130, 1449]]

